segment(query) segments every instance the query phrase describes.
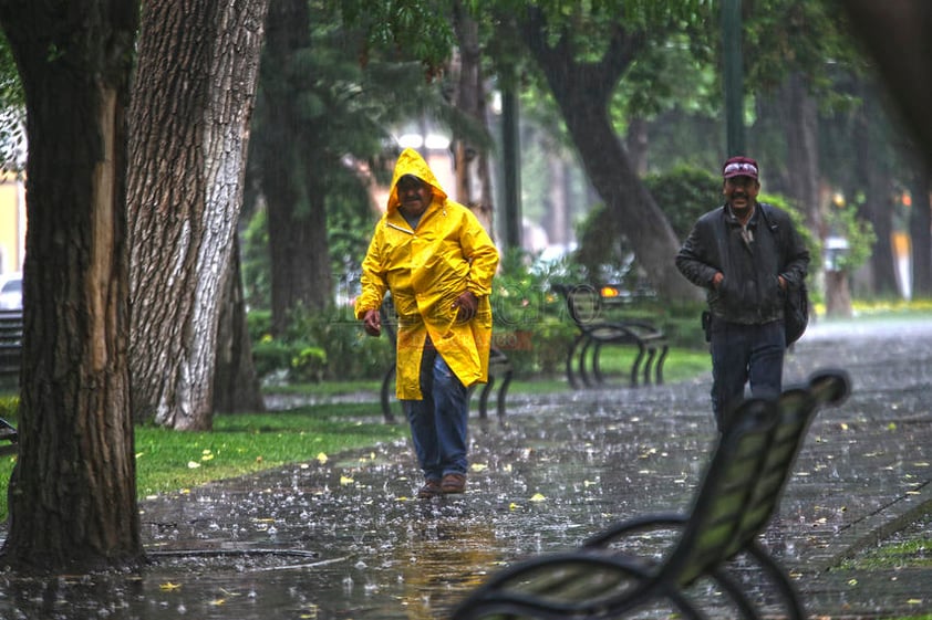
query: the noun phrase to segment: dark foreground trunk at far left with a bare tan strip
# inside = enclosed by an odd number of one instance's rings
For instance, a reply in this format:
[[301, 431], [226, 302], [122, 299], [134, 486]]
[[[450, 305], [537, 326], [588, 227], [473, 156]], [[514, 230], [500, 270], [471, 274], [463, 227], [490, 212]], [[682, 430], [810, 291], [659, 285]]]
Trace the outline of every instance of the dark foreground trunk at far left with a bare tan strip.
[[[132, 2], [0, 1], [27, 96], [20, 453], [3, 564], [143, 560], [130, 411], [126, 105]], [[51, 51], [56, 51], [52, 54]]]

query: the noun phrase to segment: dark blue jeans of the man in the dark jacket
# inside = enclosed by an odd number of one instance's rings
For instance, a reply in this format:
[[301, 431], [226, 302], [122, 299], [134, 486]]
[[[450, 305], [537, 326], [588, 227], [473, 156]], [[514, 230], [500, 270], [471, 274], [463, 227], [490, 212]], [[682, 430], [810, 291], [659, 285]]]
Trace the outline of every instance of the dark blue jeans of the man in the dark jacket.
[[750, 382], [754, 398], [777, 398], [783, 390], [786, 343], [783, 320], [764, 325], [712, 322], [712, 410], [718, 432], [734, 420]]

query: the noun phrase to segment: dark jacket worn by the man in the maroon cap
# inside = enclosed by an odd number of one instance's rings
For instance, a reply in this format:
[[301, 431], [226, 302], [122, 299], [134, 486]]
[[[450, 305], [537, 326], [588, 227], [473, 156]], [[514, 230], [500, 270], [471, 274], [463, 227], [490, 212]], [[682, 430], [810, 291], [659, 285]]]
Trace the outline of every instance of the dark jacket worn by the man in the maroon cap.
[[[766, 217], [762, 211], [766, 210]], [[686, 280], [706, 291], [708, 309], [729, 323], [758, 325], [784, 317], [787, 286], [800, 286], [809, 266], [809, 251], [789, 216], [758, 203], [747, 223], [754, 240], [742, 238], [741, 222], [723, 206], [702, 216], [676, 254], [676, 269]], [[718, 288], [712, 279], [722, 272]]]

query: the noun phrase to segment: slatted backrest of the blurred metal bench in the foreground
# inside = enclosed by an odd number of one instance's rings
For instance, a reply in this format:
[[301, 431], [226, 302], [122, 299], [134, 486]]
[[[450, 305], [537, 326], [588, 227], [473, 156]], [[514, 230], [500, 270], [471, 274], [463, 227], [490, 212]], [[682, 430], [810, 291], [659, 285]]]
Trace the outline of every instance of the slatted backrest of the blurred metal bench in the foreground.
[[809, 424], [822, 404], [848, 393], [842, 372], [827, 371], [776, 401], [748, 400], [708, 465], [680, 543], [661, 580], [684, 587], [727, 561], [759, 535], [776, 513]]

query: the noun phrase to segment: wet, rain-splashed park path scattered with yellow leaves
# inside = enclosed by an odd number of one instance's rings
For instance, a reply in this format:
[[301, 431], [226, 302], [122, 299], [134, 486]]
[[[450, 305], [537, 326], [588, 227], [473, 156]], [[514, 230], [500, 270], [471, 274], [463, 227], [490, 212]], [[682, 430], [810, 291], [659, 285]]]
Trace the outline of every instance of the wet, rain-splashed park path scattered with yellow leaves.
[[[932, 537], [930, 341], [932, 322], [825, 323], [788, 356], [787, 382], [826, 367], [852, 380], [848, 402], [812, 424], [766, 535], [812, 617], [932, 608], [932, 568], [858, 564], [901, 530]], [[398, 442], [147, 501], [154, 564], [142, 576], [0, 584], [0, 618], [76, 618], [81, 605], [84, 618], [446, 618], [506, 563], [620, 518], [687, 509], [715, 434], [707, 392], [706, 377], [511, 397], [504, 424], [472, 420], [460, 496], [415, 500], [416, 465]]]

